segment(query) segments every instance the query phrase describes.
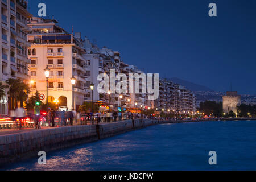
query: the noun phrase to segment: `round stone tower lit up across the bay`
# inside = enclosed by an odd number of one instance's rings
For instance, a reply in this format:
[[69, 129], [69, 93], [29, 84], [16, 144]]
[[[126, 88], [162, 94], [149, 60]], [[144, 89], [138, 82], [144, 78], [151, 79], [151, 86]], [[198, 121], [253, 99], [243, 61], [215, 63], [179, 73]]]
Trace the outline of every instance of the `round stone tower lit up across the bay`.
[[226, 96], [222, 96], [222, 100], [224, 113], [229, 113], [230, 111], [237, 113], [237, 106], [241, 105], [241, 96], [237, 92], [226, 92]]

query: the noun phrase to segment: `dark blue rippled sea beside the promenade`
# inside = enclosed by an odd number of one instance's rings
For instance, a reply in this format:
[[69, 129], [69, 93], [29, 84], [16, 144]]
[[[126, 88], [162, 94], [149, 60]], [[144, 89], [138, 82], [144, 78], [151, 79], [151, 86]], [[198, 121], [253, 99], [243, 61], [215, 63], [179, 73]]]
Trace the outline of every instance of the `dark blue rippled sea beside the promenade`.
[[[208, 163], [217, 152], [217, 165]], [[156, 125], [3, 170], [256, 170], [256, 121]]]

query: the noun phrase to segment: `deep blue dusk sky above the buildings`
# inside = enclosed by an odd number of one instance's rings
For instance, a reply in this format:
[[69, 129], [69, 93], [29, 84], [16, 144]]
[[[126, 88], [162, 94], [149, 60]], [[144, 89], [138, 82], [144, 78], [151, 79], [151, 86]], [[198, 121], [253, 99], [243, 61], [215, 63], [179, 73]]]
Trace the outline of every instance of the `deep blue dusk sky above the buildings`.
[[[81, 31], [161, 77], [179, 77], [216, 91], [256, 94], [255, 0], [33, 0], [47, 5], [67, 31]], [[208, 5], [217, 4], [217, 18]]]

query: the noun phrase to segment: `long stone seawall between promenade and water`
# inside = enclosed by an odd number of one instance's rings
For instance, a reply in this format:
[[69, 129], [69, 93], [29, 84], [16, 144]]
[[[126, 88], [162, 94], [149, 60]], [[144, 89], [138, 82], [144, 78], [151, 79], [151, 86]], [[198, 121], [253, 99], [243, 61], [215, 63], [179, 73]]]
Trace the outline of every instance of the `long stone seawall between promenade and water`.
[[39, 151], [60, 150], [76, 144], [93, 142], [127, 131], [167, 123], [141, 119], [102, 125], [58, 127], [0, 136], [0, 166], [38, 156]]

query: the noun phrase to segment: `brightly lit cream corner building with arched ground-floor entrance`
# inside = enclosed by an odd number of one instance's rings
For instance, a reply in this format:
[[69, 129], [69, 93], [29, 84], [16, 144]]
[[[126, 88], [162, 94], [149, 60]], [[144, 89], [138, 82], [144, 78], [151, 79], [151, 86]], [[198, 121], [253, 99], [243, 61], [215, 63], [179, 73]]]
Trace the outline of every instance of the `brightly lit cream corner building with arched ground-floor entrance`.
[[[28, 34], [28, 42], [31, 44], [28, 48], [28, 57], [31, 59], [29, 72], [32, 93], [38, 90], [45, 96], [43, 102], [46, 102], [47, 85], [44, 69], [48, 66], [48, 102], [59, 101], [60, 107], [67, 107], [69, 110], [73, 109], [74, 103], [74, 109], [77, 110], [84, 102], [84, 86], [88, 75], [88, 61], [84, 58], [86, 52], [81, 34], [69, 34], [55, 19], [32, 17], [28, 20], [28, 26], [31, 27]], [[72, 76], [76, 78], [74, 101]]]

